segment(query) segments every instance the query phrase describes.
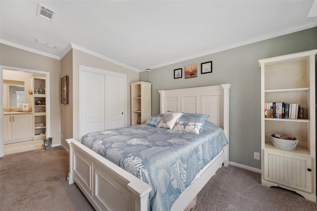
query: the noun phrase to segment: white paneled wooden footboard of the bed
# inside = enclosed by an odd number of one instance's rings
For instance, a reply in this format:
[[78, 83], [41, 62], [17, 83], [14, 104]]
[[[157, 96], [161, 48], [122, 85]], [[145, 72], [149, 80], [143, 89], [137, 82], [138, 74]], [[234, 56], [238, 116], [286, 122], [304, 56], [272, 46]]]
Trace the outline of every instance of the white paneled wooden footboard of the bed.
[[76, 183], [96, 210], [147, 211], [151, 186], [75, 139], [69, 144], [68, 183]]

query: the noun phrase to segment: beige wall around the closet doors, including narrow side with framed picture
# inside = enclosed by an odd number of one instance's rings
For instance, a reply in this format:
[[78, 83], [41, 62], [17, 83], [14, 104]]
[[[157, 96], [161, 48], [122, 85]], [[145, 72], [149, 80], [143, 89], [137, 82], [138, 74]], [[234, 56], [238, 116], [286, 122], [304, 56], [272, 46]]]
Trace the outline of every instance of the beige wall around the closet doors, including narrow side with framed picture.
[[[69, 104], [62, 105], [62, 145], [68, 147], [65, 143], [67, 138], [79, 140], [79, 66], [88, 66], [106, 71], [125, 74], [127, 78], [127, 125], [131, 125], [131, 103], [130, 103], [130, 83], [139, 81], [139, 73], [126, 67], [114, 64], [99, 57], [93, 56], [73, 49], [68, 52], [61, 60], [61, 76], [69, 75]], [[72, 68], [72, 72], [70, 72]], [[72, 113], [71, 113], [72, 112]], [[65, 114], [65, 115], [64, 115]], [[72, 124], [69, 120], [72, 119]], [[65, 132], [65, 134], [64, 134]]]

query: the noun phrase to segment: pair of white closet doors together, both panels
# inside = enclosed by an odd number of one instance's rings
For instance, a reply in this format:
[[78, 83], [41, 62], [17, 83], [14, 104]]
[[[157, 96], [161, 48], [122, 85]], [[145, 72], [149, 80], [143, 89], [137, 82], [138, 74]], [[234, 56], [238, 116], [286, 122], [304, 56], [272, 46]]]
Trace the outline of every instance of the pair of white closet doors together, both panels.
[[126, 126], [126, 75], [80, 68], [79, 136]]

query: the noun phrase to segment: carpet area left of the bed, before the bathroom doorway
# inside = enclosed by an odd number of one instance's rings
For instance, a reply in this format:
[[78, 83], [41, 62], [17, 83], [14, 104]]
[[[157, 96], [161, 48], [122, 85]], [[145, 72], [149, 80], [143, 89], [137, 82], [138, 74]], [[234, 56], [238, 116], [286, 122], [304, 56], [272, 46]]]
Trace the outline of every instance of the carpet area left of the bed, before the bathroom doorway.
[[68, 185], [68, 152], [62, 147], [0, 159], [1, 211], [94, 211], [75, 185]]

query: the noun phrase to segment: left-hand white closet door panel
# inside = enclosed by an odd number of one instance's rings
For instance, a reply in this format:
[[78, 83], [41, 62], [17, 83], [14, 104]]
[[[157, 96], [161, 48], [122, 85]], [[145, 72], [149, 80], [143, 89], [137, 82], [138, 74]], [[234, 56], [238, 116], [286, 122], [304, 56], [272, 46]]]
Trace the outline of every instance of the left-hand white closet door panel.
[[80, 81], [80, 137], [105, 129], [105, 74], [82, 70]]

